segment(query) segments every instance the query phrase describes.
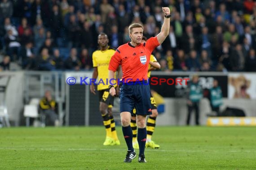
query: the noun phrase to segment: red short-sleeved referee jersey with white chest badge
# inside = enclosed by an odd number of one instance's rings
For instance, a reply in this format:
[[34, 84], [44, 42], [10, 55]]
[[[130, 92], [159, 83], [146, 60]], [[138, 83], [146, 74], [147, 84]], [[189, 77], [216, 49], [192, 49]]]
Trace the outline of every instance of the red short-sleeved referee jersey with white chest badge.
[[118, 47], [110, 59], [108, 69], [116, 72], [121, 64], [125, 82], [147, 80], [150, 55], [155, 47], [159, 46], [156, 37], [151, 37], [146, 43], [133, 47], [126, 43]]

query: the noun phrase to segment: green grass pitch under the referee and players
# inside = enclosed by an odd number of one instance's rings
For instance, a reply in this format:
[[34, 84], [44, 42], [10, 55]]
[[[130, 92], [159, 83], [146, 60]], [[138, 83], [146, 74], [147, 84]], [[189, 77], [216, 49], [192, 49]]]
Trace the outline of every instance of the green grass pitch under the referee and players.
[[103, 146], [104, 127], [0, 129], [0, 169], [255, 170], [256, 127], [156, 127], [147, 163], [124, 163], [126, 144]]

